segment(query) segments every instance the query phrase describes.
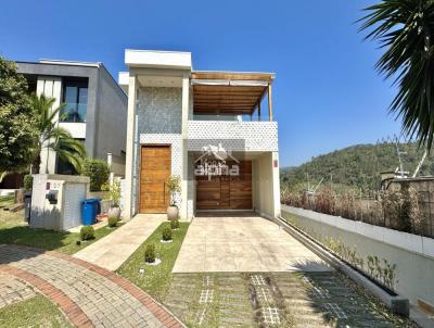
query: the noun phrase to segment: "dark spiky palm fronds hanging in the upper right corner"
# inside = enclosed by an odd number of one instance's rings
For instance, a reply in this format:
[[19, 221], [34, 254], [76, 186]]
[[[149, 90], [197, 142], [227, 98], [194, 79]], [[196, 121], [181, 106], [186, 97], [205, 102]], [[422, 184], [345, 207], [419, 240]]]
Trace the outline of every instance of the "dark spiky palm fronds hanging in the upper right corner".
[[375, 68], [394, 77], [398, 93], [390, 110], [403, 131], [431, 149], [434, 137], [434, 0], [383, 0], [365, 9], [360, 30], [385, 49]]

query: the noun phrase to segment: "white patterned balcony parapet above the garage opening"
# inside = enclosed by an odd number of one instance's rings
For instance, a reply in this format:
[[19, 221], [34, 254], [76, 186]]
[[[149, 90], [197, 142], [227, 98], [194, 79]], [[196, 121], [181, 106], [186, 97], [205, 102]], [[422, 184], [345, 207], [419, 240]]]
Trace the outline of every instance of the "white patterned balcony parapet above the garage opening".
[[189, 121], [189, 151], [218, 143], [231, 151], [278, 151], [278, 123]]

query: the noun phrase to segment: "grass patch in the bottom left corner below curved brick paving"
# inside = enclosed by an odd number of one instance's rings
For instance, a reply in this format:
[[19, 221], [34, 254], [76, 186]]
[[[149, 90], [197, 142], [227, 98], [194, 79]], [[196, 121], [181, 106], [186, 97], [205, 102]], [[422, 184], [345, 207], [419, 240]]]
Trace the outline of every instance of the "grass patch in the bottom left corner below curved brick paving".
[[56, 305], [37, 295], [0, 308], [0, 327], [72, 327]]

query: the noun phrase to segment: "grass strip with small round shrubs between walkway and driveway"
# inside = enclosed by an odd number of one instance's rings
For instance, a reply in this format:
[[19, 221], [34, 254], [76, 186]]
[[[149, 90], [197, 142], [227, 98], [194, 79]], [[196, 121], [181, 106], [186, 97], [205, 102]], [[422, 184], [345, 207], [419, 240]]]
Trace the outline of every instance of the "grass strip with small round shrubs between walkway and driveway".
[[[168, 226], [170, 226], [170, 223], [163, 223], [117, 269], [120, 276], [140, 287], [159, 302], [168, 293], [173, 279], [171, 269], [189, 228], [188, 223], [180, 223], [179, 230], [174, 231], [174, 242], [162, 243], [159, 241], [162, 239], [162, 231]], [[150, 266], [144, 264], [144, 250], [149, 243], [155, 244], [156, 257], [162, 260], [159, 265]], [[140, 268], [144, 268], [144, 274], [139, 274]]]

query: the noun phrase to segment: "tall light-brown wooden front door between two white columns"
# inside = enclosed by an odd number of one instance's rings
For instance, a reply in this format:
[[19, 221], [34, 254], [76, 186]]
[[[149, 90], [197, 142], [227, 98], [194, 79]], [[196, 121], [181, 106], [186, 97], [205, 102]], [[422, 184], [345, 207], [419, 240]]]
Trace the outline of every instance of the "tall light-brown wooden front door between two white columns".
[[166, 213], [169, 204], [170, 147], [142, 146], [140, 152], [140, 213]]

